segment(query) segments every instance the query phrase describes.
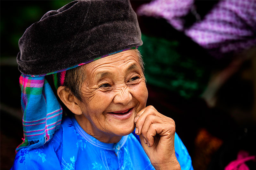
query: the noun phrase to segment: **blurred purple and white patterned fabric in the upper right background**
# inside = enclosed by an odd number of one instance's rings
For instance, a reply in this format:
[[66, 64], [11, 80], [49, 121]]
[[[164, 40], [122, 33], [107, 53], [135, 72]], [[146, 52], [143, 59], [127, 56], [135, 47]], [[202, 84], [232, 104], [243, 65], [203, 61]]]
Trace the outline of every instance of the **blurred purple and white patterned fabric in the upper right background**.
[[203, 20], [185, 28], [182, 17], [193, 10], [193, 3], [194, 0], [156, 0], [140, 6], [138, 15], [165, 18], [200, 46], [214, 50], [216, 58], [255, 46], [256, 1], [220, 1]]

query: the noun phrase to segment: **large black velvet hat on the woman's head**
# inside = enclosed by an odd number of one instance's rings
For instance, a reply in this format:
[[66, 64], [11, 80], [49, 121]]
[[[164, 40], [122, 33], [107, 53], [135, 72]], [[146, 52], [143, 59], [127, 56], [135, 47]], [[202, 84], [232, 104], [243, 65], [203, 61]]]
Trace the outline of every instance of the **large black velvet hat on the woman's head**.
[[17, 62], [21, 73], [42, 75], [141, 45], [129, 1], [73, 1], [47, 12], [25, 31]]

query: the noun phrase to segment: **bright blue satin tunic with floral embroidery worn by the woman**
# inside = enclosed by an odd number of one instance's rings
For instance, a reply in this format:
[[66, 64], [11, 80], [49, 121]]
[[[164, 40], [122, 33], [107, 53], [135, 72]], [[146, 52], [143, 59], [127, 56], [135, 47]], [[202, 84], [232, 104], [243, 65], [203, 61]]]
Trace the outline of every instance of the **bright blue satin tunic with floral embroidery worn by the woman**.
[[[193, 170], [186, 147], [175, 133], [175, 154], [182, 170]], [[100, 142], [66, 117], [61, 128], [43, 146], [16, 154], [11, 170], [150, 170], [155, 169], [143, 150], [137, 135], [131, 133], [116, 144]]]

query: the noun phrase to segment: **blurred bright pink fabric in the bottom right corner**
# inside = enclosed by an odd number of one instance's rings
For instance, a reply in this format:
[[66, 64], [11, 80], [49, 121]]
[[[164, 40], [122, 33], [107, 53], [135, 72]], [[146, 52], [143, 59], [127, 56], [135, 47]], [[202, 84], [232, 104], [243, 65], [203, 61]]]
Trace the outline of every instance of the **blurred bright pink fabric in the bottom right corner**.
[[246, 161], [254, 160], [254, 156], [249, 156], [249, 153], [246, 151], [239, 151], [237, 153], [237, 159], [231, 161], [228, 166], [225, 167], [225, 170], [250, 170], [249, 167], [245, 164]]

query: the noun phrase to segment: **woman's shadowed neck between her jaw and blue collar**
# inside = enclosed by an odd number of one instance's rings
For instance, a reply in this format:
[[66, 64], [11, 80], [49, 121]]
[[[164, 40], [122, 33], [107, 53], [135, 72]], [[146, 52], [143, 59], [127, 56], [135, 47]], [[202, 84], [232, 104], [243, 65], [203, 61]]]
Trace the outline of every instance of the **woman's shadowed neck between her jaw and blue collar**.
[[100, 142], [104, 143], [117, 143], [121, 140], [122, 136], [116, 136], [114, 134], [100, 131], [98, 128], [93, 126], [83, 114], [82, 115], [75, 115], [77, 123], [81, 126], [81, 128], [91, 135], [92, 137], [96, 138]]

